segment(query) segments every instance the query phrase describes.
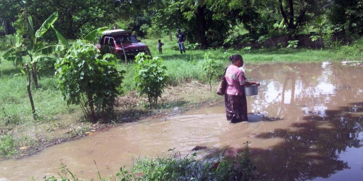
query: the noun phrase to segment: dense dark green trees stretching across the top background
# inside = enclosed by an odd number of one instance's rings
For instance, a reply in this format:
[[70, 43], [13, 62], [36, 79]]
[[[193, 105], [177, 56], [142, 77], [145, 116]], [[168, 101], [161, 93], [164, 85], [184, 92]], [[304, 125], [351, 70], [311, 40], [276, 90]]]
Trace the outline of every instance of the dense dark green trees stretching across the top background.
[[[347, 43], [363, 33], [360, 0], [1, 0], [1, 4], [5, 34], [15, 27], [27, 36], [28, 14], [38, 25], [55, 11], [59, 18], [54, 26], [67, 39], [83, 37], [97, 27], [111, 28], [114, 23], [149, 38], [170, 33], [174, 37], [181, 28], [187, 40], [200, 43], [201, 48], [264, 43], [281, 35], [296, 40], [296, 35], [311, 33], [325, 37], [326, 42], [343, 34], [340, 39]], [[44, 38], [56, 40], [49, 33]]]

